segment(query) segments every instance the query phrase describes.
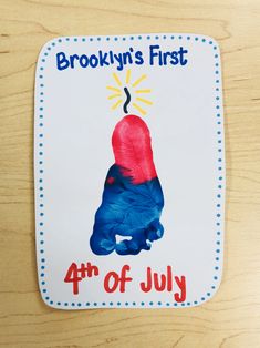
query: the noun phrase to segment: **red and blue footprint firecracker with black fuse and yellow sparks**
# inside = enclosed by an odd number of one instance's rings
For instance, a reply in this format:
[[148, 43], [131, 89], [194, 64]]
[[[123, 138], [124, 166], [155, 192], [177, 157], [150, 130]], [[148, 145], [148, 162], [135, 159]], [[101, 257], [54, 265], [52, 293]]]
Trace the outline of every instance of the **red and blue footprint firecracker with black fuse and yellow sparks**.
[[[119, 82], [118, 76], [114, 76]], [[119, 91], [115, 92], [121, 94]], [[127, 114], [131, 93], [127, 86], [123, 91], [126, 96], [123, 110]], [[152, 243], [164, 234], [159, 222], [164, 195], [145, 121], [137, 115], [125, 115], [114, 129], [112, 146], [115, 163], [105, 178], [90, 244], [96, 255], [108, 255], [114, 250], [118, 255], [136, 255], [141, 250], [149, 250]], [[117, 242], [117, 236], [123, 239]]]

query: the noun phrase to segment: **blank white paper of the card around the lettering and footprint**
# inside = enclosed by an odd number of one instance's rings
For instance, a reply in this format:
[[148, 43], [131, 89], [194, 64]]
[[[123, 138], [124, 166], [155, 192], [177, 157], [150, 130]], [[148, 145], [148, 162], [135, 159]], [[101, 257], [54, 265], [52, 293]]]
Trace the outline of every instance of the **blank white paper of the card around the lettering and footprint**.
[[[165, 196], [162, 216], [165, 235], [153, 243], [150, 252], [142, 252], [137, 256], [118, 256], [115, 253], [105, 257], [96, 256], [91, 252], [89, 240], [94, 214], [101, 204], [104, 180], [108, 167], [114, 163], [111, 135], [116, 122], [124, 115], [122, 109], [111, 111], [112, 102], [107, 100], [110, 92], [106, 85], [115, 85], [112, 73], [116, 70], [112, 65], [59, 71], [55, 53], [63, 51], [67, 54], [89, 55], [100, 49], [124, 52], [133, 47], [143, 51], [145, 62], [148, 62], [149, 44], [159, 44], [163, 51], [178, 50], [180, 45], [188, 49], [188, 63], [185, 66], [150, 66], [147, 63], [131, 66], [133, 79], [146, 73], [147, 80], [142, 82], [142, 88], [152, 89], [149, 99], [154, 104], [145, 108], [148, 113], [143, 119], [150, 130], [154, 161]], [[49, 45], [50, 43], [43, 48], [39, 62]], [[185, 275], [186, 303], [200, 303], [200, 298], [206, 296], [212, 284], [218, 287], [220, 279], [214, 280], [219, 176], [215, 53], [212, 47], [202, 43], [201, 39], [199, 42], [178, 39], [144, 39], [133, 42], [79, 40], [62, 42], [52, 48], [43, 72], [43, 231], [45, 288], [54, 306], [56, 301], [90, 301], [91, 305], [94, 301], [98, 305], [102, 301], [121, 301], [122, 307], [125, 301], [136, 301], [137, 307], [141, 301], [162, 301], [163, 305], [167, 301], [174, 303], [173, 293], [144, 294], [139, 290], [138, 284], [145, 279], [147, 266], [155, 272], [165, 272], [166, 266], [171, 265], [174, 275]], [[38, 112], [41, 83], [38, 75], [41, 65], [38, 64], [35, 83], [35, 145], [41, 132]], [[127, 68], [123, 72], [117, 71], [122, 80], [125, 79]], [[221, 89], [221, 84], [219, 86]], [[129, 113], [138, 114], [131, 108]], [[35, 206], [39, 226], [37, 146], [35, 151]], [[222, 167], [225, 168], [223, 163]], [[220, 213], [223, 218], [223, 195], [218, 203], [221, 204]], [[220, 228], [222, 231], [222, 224]], [[37, 228], [38, 242], [39, 231]], [[220, 249], [221, 273], [222, 243]], [[38, 258], [41, 257], [38, 247]], [[72, 295], [72, 285], [63, 282], [72, 262], [91, 262], [101, 270], [98, 278], [83, 279], [80, 283], [77, 296]], [[119, 272], [124, 264], [131, 266], [134, 280], [127, 284], [125, 294], [106, 294], [102, 284], [103, 276], [110, 270]]]

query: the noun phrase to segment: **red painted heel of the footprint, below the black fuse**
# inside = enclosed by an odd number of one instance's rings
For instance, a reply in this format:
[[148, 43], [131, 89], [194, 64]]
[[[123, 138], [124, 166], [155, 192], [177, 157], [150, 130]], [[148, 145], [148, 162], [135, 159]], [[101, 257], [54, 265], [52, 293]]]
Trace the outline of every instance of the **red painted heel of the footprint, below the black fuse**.
[[134, 184], [142, 184], [157, 176], [149, 130], [138, 116], [127, 115], [116, 124], [112, 146], [115, 163], [124, 168], [123, 175], [131, 176]]

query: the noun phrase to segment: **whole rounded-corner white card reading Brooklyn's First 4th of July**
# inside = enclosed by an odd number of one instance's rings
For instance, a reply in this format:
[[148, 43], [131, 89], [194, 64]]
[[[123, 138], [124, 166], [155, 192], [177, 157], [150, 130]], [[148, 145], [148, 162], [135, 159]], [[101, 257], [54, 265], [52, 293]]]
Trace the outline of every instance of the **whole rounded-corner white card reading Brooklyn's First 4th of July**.
[[210, 299], [223, 259], [219, 48], [195, 34], [58, 38], [35, 78], [39, 286], [61, 309]]

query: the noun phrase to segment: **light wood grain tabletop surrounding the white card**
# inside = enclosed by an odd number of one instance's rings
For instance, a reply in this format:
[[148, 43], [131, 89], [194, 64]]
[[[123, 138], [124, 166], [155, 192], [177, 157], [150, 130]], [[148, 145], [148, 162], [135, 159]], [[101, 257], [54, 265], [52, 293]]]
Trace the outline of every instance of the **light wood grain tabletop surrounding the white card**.
[[[260, 1], [0, 0], [0, 346], [260, 347]], [[223, 279], [189, 309], [62, 311], [37, 283], [33, 86], [59, 35], [191, 32], [220, 43], [227, 208]]]

